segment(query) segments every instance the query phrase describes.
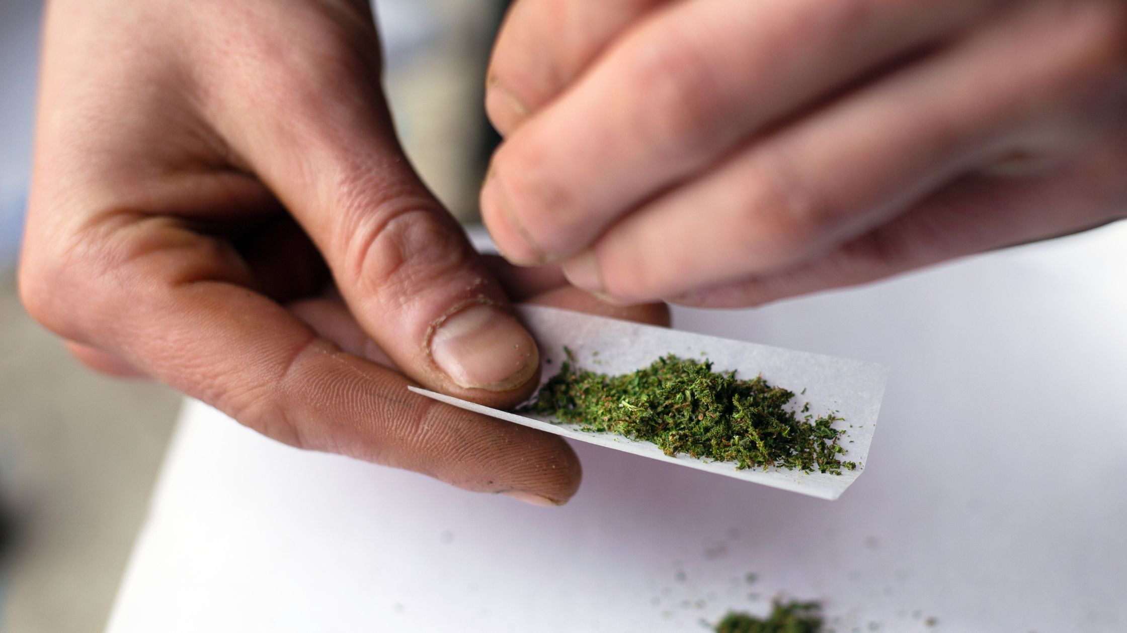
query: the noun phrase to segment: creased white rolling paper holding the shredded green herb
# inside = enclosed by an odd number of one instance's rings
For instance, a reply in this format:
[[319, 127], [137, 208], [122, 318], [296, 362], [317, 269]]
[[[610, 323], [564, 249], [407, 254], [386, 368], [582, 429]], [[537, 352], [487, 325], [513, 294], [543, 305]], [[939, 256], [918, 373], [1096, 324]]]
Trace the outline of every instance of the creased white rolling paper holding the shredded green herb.
[[736, 376], [742, 378], [762, 375], [773, 385], [799, 393], [795, 403], [801, 407], [808, 402], [810, 413], [815, 416], [833, 412], [843, 418], [843, 421], [835, 424], [835, 427], [845, 430], [841, 443], [846, 453], [841, 458], [857, 462], [858, 469], [843, 470], [841, 474], [806, 473], [775, 467], [737, 470], [731, 463], [709, 462], [687, 455], [671, 457], [649, 442], [583, 431], [576, 425], [553, 424], [550, 418], [491, 409], [417, 387], [410, 387], [411, 391], [469, 411], [561, 435], [569, 439], [820, 499], [837, 499], [864, 471], [864, 464], [869, 460], [869, 444], [877, 428], [877, 416], [880, 412], [880, 402], [888, 377], [887, 368], [881, 365], [616, 321], [553, 307], [523, 305], [518, 311], [521, 319], [540, 342], [544, 382], [559, 372], [560, 363], [566, 355], [565, 348], [571, 351], [579, 366], [611, 375], [635, 372], [667, 354], [676, 354], [683, 358], [708, 358], [712, 360], [717, 371], [735, 369]]

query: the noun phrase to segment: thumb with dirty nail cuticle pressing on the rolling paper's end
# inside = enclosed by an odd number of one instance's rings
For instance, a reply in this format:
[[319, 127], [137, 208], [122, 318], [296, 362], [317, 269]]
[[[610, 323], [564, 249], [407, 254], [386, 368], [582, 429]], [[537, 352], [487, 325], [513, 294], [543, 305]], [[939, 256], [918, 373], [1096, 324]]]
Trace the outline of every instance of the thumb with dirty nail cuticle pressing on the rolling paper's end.
[[261, 84], [222, 92], [233, 97], [216, 126], [309, 233], [353, 314], [403, 373], [436, 391], [514, 404], [538, 382], [535, 341], [405, 159], [379, 62], [355, 50], [321, 47], [329, 59], [242, 78]]

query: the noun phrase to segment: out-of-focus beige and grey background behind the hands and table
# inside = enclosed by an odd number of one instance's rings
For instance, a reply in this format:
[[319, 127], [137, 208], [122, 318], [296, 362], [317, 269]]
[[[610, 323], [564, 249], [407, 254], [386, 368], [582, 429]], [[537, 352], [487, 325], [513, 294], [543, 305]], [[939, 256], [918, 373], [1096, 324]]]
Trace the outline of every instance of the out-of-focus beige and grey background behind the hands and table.
[[[496, 143], [481, 102], [505, 3], [375, 2], [408, 154], [468, 221]], [[0, 631], [98, 632], [180, 399], [85, 369], [19, 304], [42, 12], [41, 0], [0, 0]]]

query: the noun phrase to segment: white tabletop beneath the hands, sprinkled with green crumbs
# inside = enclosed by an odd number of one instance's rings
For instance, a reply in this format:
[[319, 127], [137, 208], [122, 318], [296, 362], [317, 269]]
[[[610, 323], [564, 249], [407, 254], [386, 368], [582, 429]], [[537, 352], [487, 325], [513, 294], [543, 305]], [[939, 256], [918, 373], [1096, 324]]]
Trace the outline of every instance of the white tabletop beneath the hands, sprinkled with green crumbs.
[[838, 632], [1127, 631], [1127, 226], [676, 319], [889, 365], [858, 483], [577, 446], [579, 494], [539, 509], [189, 403], [108, 631], [704, 631], [778, 592]]

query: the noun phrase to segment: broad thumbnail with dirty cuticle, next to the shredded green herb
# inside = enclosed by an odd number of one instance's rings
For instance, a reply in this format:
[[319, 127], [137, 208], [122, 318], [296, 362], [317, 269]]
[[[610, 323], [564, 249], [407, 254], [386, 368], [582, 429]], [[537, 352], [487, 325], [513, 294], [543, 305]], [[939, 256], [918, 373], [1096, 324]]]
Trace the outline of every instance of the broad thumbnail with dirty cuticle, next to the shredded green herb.
[[516, 389], [540, 365], [532, 336], [492, 305], [474, 305], [443, 321], [431, 339], [431, 356], [459, 386], [486, 391]]

